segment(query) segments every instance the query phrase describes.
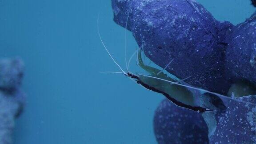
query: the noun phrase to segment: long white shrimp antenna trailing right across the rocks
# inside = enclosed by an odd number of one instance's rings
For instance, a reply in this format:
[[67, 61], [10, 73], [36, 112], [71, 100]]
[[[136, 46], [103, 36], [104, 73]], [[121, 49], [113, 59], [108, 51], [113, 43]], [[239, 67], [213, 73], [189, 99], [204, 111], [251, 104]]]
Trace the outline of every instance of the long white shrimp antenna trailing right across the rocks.
[[[186, 88], [191, 88], [191, 89], [199, 90], [199, 91], [202, 91], [202, 92], [207, 92], [207, 93], [210, 93], [210, 94], [213, 94], [213, 95], [216, 95], [216, 96], [220, 96], [220, 97], [225, 98], [225, 99], [235, 100], [235, 99], [233, 99], [231, 97], [224, 96], [224, 95], [221, 95], [221, 94], [216, 93], [216, 92], [210, 92], [210, 91], [202, 89], [202, 88], [195, 88], [195, 87], [192, 87], [192, 86], [188, 86], [188, 85], [184, 85], [184, 84], [179, 84], [179, 83], [176, 83], [176, 82], [173, 82], [173, 81], [164, 80], [164, 79], [161, 79], [161, 78], [158, 78], [158, 77], [154, 77], [154, 76], [147, 76], [147, 75], [143, 75], [143, 74], [139, 74], [139, 75], [140, 76], [145, 76], [145, 77], [150, 77], [150, 78], [157, 79], [157, 80], [163, 80], [163, 81], [166, 81], [166, 82], [169, 82], [169, 83], [172, 83], [172, 84], [176, 84], [176, 85], [180, 85], [180, 86], [183, 86], [183, 87], [186, 87]], [[246, 104], [256, 105], [256, 104], [253, 104], [253, 103], [250, 103], [250, 102], [246, 102], [246, 101], [241, 101], [241, 102], [244, 102]]]

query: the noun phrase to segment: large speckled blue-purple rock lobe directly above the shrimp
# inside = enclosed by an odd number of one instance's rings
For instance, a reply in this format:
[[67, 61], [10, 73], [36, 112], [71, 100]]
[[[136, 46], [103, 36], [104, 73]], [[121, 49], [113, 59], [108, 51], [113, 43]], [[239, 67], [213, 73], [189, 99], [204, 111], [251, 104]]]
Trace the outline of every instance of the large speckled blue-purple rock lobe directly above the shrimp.
[[[114, 20], [133, 33], [154, 63], [180, 79], [213, 92], [230, 87], [225, 74], [226, 36], [233, 25], [219, 22], [195, 0], [112, 0]], [[127, 17], [129, 16], [128, 20]]]

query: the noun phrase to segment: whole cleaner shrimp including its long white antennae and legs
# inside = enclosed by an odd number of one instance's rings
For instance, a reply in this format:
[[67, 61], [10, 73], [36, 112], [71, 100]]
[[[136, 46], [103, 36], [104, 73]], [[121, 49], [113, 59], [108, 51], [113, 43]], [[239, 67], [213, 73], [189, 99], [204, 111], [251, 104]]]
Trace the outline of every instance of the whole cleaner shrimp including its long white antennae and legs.
[[[128, 17], [127, 17], [128, 19]], [[128, 21], [128, 20], [127, 20]], [[126, 21], [126, 23], [127, 23]], [[127, 24], [126, 24], [127, 26]], [[125, 28], [125, 31], [127, 28]], [[128, 77], [129, 79], [133, 80], [136, 82], [136, 84], [141, 85], [142, 87], [151, 90], [153, 92], [160, 93], [164, 95], [168, 100], [170, 100], [173, 104], [182, 107], [182, 108], [187, 108], [195, 112], [212, 112], [215, 111], [213, 109], [209, 108], [204, 108], [201, 107], [200, 104], [196, 104], [196, 101], [198, 97], [200, 97], [201, 94], [208, 93], [213, 96], [219, 97], [221, 100], [236, 100], [232, 97], [224, 96], [221, 94], [218, 94], [216, 92], [210, 92], [208, 90], [202, 89], [202, 88], [196, 88], [193, 87], [187, 83], [185, 83], [184, 80], [180, 80], [178, 78], [170, 77], [167, 74], [164, 74], [165, 68], [168, 67], [168, 65], [172, 62], [170, 62], [163, 70], [159, 70], [157, 68], [153, 68], [149, 65], [145, 65], [141, 52], [143, 52], [143, 49], [137, 50], [131, 58], [128, 60], [126, 59], [126, 40], [125, 40], [125, 64], [126, 64], [126, 70], [124, 71], [123, 68], [120, 67], [120, 65], [117, 63], [117, 61], [114, 59], [114, 57], [111, 55], [111, 53], [108, 51], [108, 48], [103, 42], [103, 39], [100, 35], [100, 29], [99, 29], [99, 16], [97, 19], [97, 32], [100, 37], [100, 41], [105, 49], [105, 51], [108, 53], [112, 61], [116, 64], [116, 66], [120, 69], [120, 72], [104, 72], [104, 73], [118, 73], [118, 74], [123, 74], [124, 76]], [[125, 39], [126, 39], [126, 32], [125, 32]], [[148, 72], [150, 75], [144, 75], [140, 73], [132, 73], [128, 71], [130, 61], [132, 60], [132, 57], [136, 55], [137, 56], [137, 65], [140, 66], [140, 68], [144, 69], [146, 72]], [[236, 100], [240, 102], [244, 102], [246, 104], [253, 104], [250, 102], [246, 101], [241, 101], [241, 100]], [[256, 105], [256, 104], [253, 104]]]

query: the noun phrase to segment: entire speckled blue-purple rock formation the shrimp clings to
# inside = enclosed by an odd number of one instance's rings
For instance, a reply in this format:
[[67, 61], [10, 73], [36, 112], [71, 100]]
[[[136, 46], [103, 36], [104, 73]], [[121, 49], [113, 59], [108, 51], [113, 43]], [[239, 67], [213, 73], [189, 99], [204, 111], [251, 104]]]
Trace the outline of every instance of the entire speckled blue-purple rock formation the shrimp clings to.
[[[166, 69], [169, 73], [180, 79], [191, 76], [188, 84], [208, 91], [255, 95], [256, 12], [234, 26], [215, 20], [195, 0], [112, 0], [112, 8], [114, 21], [133, 33], [150, 60], [162, 68], [173, 60]], [[229, 88], [236, 89], [228, 92]], [[200, 100], [214, 110], [203, 114], [205, 121], [200, 114], [164, 100], [154, 117], [157, 141], [201, 144], [208, 143], [209, 134], [210, 143], [256, 143], [255, 96], [222, 101], [204, 94]]]

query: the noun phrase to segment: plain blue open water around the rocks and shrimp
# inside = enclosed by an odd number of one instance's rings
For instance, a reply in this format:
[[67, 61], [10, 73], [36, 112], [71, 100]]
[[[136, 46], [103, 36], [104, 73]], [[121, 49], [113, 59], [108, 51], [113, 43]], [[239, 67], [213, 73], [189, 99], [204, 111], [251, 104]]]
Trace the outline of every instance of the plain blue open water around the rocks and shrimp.
[[[233, 24], [254, 12], [249, 0], [198, 0]], [[0, 0], [0, 57], [25, 63], [28, 102], [15, 144], [155, 144], [154, 110], [163, 96], [119, 74], [97, 35], [124, 63], [124, 28], [111, 0]], [[136, 43], [127, 33], [128, 56]], [[134, 60], [133, 60], [134, 61]], [[132, 63], [131, 71], [139, 71]]]

